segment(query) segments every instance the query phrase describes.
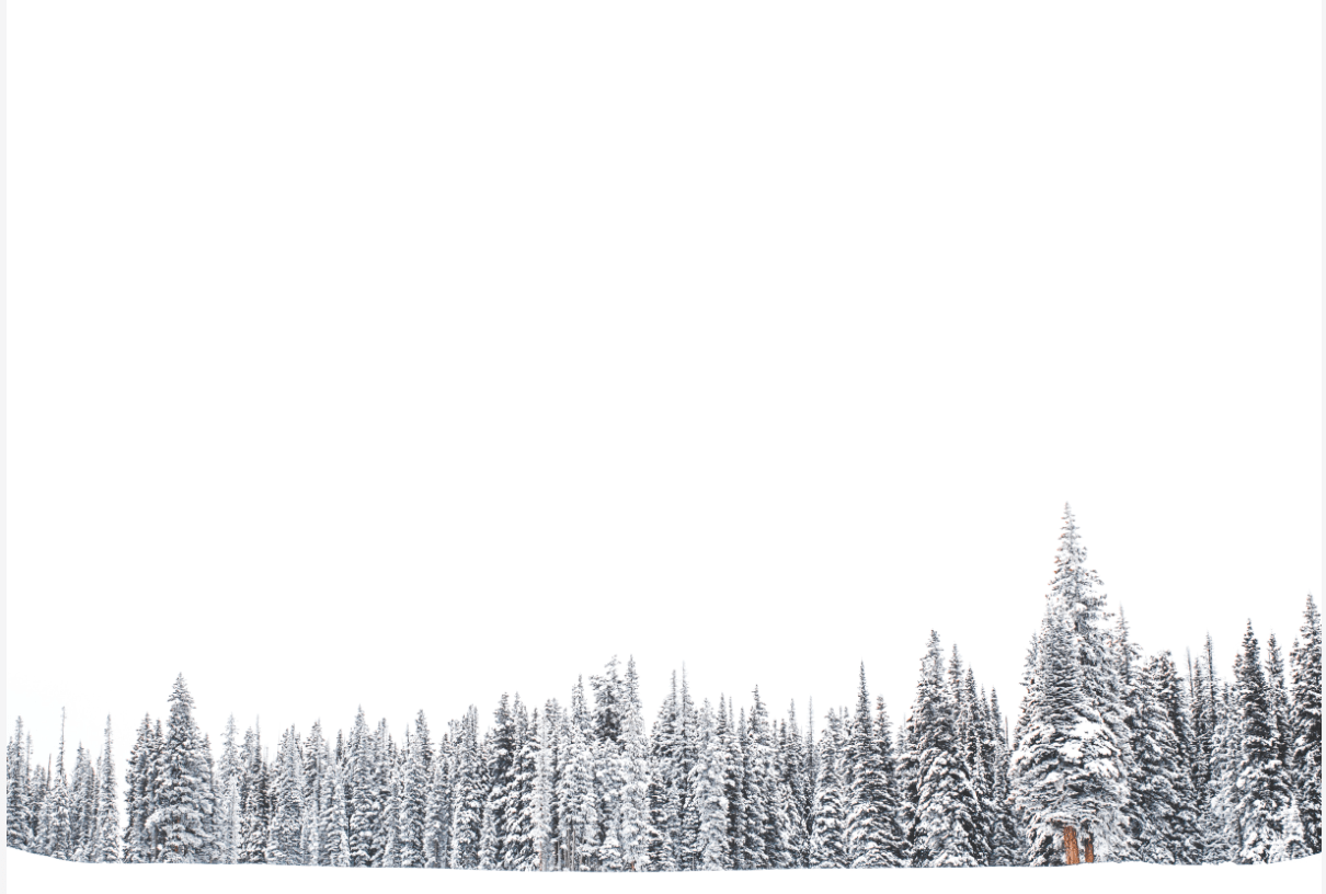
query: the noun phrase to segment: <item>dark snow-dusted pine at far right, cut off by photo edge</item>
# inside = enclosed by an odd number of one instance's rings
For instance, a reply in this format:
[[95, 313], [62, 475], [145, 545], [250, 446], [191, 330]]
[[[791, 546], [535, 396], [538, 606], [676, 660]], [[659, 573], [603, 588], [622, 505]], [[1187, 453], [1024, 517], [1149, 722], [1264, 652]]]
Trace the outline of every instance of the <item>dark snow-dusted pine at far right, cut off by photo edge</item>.
[[1299, 639], [1290, 654], [1293, 710], [1289, 728], [1298, 812], [1307, 853], [1322, 852], [1322, 618], [1307, 597]]

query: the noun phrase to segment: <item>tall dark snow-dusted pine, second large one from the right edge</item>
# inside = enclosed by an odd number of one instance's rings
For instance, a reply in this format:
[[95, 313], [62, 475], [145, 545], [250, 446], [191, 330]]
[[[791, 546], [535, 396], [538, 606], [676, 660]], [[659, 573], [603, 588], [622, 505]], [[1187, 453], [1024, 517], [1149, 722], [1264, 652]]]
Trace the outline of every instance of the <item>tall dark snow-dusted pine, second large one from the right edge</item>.
[[1258, 653], [1249, 621], [1235, 676], [1242, 734], [1238, 796], [1233, 805], [1238, 830], [1235, 861], [1240, 863], [1280, 862], [1306, 854], [1303, 825], [1289, 769], [1280, 760], [1273, 704]]

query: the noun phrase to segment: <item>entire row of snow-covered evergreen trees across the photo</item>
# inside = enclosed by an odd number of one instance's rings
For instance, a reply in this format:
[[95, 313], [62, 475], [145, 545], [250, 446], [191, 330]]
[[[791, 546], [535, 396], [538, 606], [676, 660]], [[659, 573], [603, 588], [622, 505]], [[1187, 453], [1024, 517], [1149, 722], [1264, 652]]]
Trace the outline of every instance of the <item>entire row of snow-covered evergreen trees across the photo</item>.
[[109, 718], [72, 773], [64, 734], [41, 761], [20, 718], [7, 844], [84, 862], [572, 871], [1278, 862], [1321, 852], [1321, 635], [1309, 596], [1288, 671], [1250, 623], [1232, 669], [1209, 635], [1181, 663], [1143, 655], [1065, 507], [1009, 720], [934, 631], [896, 728], [865, 666], [855, 704], [818, 730], [758, 688], [697, 699], [684, 671], [647, 728], [635, 663], [614, 658], [569, 704], [503, 696], [487, 727], [471, 707], [440, 735], [420, 711], [399, 737], [361, 708], [334, 736], [278, 731], [269, 755], [233, 716], [213, 744], [180, 675], [123, 777]]

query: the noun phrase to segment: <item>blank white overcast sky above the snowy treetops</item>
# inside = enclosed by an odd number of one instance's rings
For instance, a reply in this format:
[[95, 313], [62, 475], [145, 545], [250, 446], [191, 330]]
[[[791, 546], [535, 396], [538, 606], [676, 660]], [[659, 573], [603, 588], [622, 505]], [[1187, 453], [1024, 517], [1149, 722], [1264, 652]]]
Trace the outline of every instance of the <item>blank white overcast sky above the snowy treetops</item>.
[[9, 4], [7, 735], [1288, 651], [1319, 4], [651, 5]]

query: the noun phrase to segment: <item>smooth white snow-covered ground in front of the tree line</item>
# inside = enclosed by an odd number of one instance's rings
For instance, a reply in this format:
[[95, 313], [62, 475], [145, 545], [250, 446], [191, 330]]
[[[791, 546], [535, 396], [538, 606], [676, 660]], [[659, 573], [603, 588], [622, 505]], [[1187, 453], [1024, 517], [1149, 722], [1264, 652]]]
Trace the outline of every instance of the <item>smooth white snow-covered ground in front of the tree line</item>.
[[[34, 857], [5, 848], [5, 890], [9, 894], [60, 891], [133, 891], [134, 894], [210, 894], [216, 891], [317, 891], [346, 894], [391, 891], [483, 891], [529, 894], [542, 891], [924, 891], [972, 894], [1146, 894], [1185, 891], [1223, 894], [1294, 894], [1322, 890], [1321, 856], [1273, 866], [1148, 866], [1095, 863], [1065, 869], [857, 869], [766, 870], [757, 873], [676, 873], [638, 875], [570, 873], [480, 873], [427, 869], [328, 869], [314, 866], [89, 866]], [[1071, 871], [1071, 885], [1065, 873]]]

